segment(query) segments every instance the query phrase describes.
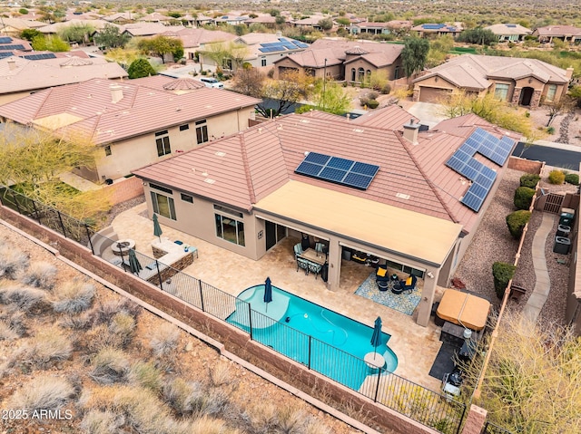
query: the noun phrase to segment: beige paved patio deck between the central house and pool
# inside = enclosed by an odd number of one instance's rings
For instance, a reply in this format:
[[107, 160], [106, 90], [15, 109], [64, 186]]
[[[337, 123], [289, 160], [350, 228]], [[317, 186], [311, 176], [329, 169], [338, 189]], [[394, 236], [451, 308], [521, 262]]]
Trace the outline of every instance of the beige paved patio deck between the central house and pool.
[[[153, 221], [143, 217], [146, 209], [146, 204], [142, 203], [124, 211], [113, 219], [112, 226], [120, 238], [135, 240], [138, 252], [153, 256]], [[372, 267], [343, 260], [340, 289], [331, 292], [320, 277], [315, 279], [314, 275], [305, 275], [302, 270], [297, 272], [292, 246], [300, 240], [287, 237], [259, 261], [254, 261], [171, 227], [162, 225], [162, 231], [162, 236], [170, 240], [181, 240], [198, 248], [199, 257], [183, 270], [184, 273], [228, 294], [238, 295], [246, 288], [261, 285], [268, 276], [272, 285], [370, 327], [381, 316], [382, 331], [391, 335], [389, 348], [398, 356], [395, 373], [432, 391], [440, 390], [440, 381], [428, 375], [442, 343], [439, 341], [440, 327], [433, 321], [422, 327], [415, 323], [413, 315], [399, 313], [354, 294], [374, 271]]]

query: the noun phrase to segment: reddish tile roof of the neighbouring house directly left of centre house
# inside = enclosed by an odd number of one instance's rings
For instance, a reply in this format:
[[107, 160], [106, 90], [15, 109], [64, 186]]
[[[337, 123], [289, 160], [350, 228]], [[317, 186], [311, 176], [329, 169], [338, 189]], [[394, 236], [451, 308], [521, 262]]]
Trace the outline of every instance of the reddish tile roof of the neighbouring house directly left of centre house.
[[[111, 143], [163, 130], [173, 125], [203, 119], [242, 107], [252, 107], [260, 100], [238, 93], [202, 89], [190, 92], [160, 90], [172, 79], [139, 82], [111, 82], [93, 79], [77, 84], [36, 92], [17, 101], [0, 106], [0, 116], [21, 124], [43, 123], [44, 118], [70, 115], [80, 120], [67, 122], [66, 131], [88, 135], [95, 144]], [[123, 98], [112, 101], [111, 86], [122, 88]], [[58, 128], [56, 118], [54, 126]], [[58, 122], [57, 122], [58, 121]]]

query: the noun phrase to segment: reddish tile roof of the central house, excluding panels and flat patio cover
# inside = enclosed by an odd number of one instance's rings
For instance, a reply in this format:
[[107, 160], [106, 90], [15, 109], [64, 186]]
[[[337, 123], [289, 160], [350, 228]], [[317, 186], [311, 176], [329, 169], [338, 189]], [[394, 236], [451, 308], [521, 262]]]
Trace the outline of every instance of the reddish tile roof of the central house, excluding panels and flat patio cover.
[[[406, 122], [411, 118], [393, 108], [360, 123], [317, 111], [291, 114], [133, 173], [246, 210], [295, 180], [472, 228], [478, 213], [459, 202], [468, 183], [458, 182], [458, 173], [444, 163], [477, 126], [498, 137], [502, 132], [468, 116], [444, 124], [453, 134], [443, 130], [419, 133], [419, 144], [411, 145], [400, 132], [375, 126], [381, 124], [376, 120], [388, 119], [389, 113], [405, 116]], [[376, 164], [379, 172], [364, 191], [294, 173], [310, 151]], [[498, 169], [489, 161], [485, 164]]]

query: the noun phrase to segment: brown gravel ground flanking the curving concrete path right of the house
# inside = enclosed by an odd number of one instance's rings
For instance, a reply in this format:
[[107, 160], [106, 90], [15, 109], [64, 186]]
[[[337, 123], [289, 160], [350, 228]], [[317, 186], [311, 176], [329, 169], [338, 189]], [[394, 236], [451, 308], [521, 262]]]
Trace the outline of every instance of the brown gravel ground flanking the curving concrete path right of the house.
[[[548, 169], [544, 174], [548, 173]], [[498, 187], [494, 200], [478, 227], [478, 233], [474, 236], [472, 244], [462, 259], [455, 277], [458, 277], [469, 290], [485, 295], [491, 300], [496, 309], [500, 306], [500, 300], [494, 291], [492, 278], [492, 264], [496, 261], [513, 263], [517, 254], [518, 242], [512, 239], [508, 233], [506, 216], [515, 210], [513, 197], [515, 189], [519, 185], [519, 178], [523, 172], [508, 169], [505, 178]], [[546, 178], [542, 178], [541, 186], [559, 191], [575, 191], [575, 186], [550, 186]], [[523, 244], [520, 258], [518, 259], [517, 272], [514, 282], [527, 289], [519, 302], [509, 301], [509, 307], [522, 309], [535, 288], [536, 276], [533, 267], [531, 246], [537, 228], [541, 224], [543, 214], [540, 211], [533, 212], [528, 224], [527, 236]], [[553, 240], [558, 226], [558, 217], [555, 217], [555, 225], [547, 236], [545, 256], [547, 258], [547, 270], [551, 280], [551, 290], [547, 302], [541, 310], [539, 322], [541, 323], [565, 323], [566, 286], [568, 282], [569, 256], [553, 253]], [[556, 259], [566, 258], [566, 265], [556, 262]]]

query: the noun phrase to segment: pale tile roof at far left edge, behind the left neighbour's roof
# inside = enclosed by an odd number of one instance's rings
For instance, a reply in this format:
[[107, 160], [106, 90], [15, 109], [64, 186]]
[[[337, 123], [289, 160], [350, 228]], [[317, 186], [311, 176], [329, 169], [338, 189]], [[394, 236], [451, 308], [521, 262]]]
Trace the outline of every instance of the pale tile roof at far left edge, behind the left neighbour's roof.
[[22, 57], [12, 59], [15, 61], [14, 69], [10, 67], [8, 58], [0, 59], [0, 93], [35, 91], [52, 86], [84, 82], [96, 77], [103, 79], [127, 77], [127, 72], [118, 63], [110, 63], [99, 58], [91, 59], [91, 64], [76, 66], [62, 65], [62, 63], [71, 62], [74, 57], [34, 61]]

